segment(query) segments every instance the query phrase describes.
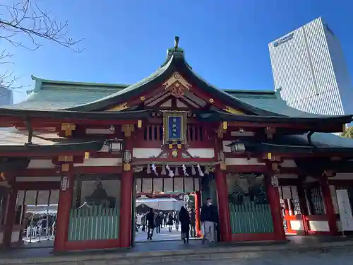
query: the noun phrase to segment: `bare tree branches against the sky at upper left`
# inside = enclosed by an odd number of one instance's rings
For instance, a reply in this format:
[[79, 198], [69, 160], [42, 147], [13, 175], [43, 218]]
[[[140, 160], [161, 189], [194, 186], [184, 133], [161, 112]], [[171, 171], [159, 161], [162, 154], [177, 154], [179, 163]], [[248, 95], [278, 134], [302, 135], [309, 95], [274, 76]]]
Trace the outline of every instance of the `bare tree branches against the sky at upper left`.
[[[81, 40], [68, 37], [68, 21], [60, 23], [56, 18], [50, 17], [49, 13], [40, 8], [36, 0], [14, 1], [16, 3], [12, 5], [0, 3], [0, 43], [9, 42], [15, 47], [34, 51], [42, 46], [40, 40], [49, 40], [73, 52], [82, 52], [83, 49], [76, 47]], [[23, 36], [30, 42], [23, 42]], [[12, 58], [13, 54], [4, 50], [0, 53], [0, 64], [11, 65]], [[13, 71], [0, 73], [2, 86], [11, 90], [22, 88], [16, 86], [16, 81], [18, 77], [13, 76]]]

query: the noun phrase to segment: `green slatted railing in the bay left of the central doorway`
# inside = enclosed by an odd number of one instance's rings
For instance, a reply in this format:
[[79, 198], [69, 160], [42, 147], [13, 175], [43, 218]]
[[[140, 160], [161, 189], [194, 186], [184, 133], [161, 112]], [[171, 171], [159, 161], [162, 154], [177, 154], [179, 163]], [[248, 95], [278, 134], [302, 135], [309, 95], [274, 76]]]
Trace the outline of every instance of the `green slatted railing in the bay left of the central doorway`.
[[119, 208], [91, 206], [71, 210], [68, 241], [118, 239], [119, 216]]

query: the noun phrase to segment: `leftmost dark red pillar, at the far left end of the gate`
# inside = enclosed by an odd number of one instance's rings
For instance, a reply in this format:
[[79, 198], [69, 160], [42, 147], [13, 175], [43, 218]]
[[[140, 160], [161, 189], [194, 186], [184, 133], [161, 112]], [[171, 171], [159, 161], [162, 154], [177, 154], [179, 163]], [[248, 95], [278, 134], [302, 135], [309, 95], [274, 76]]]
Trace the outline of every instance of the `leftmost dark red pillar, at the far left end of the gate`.
[[[13, 225], [16, 217], [16, 199], [18, 190], [10, 189], [8, 192], [8, 204], [6, 209], [6, 222], [4, 228], [3, 245], [4, 247], [11, 247], [11, 237]], [[17, 240], [16, 240], [17, 241]]]

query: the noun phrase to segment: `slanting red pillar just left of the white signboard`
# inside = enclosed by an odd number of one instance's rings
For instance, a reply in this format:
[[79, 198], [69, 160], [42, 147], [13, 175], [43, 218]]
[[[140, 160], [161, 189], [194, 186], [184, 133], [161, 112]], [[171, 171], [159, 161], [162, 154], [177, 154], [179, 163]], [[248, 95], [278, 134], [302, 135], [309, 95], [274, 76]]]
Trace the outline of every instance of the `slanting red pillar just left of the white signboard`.
[[338, 235], [335, 207], [333, 206], [328, 179], [325, 176], [319, 176], [318, 179], [321, 185], [321, 192], [323, 193], [323, 204], [325, 205], [326, 209], [326, 216], [328, 218], [328, 227], [330, 228], [330, 234]]

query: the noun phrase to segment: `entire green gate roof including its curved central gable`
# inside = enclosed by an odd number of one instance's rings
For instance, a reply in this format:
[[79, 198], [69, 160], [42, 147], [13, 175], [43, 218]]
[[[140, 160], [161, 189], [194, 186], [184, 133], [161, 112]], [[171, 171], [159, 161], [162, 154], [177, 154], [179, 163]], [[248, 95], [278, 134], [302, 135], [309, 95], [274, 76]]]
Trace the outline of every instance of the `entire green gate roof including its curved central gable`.
[[83, 112], [102, 110], [154, 88], [174, 71], [181, 71], [184, 78], [192, 79], [196, 86], [226, 102], [230, 107], [238, 107], [246, 112], [268, 116], [325, 117], [325, 115], [310, 114], [289, 107], [280, 97], [279, 91], [220, 90], [191, 69], [181, 48], [168, 49], [164, 64], [150, 76], [133, 85], [50, 81], [32, 76], [35, 80], [35, 89], [23, 102], [8, 108]]

